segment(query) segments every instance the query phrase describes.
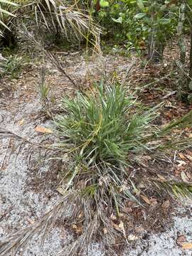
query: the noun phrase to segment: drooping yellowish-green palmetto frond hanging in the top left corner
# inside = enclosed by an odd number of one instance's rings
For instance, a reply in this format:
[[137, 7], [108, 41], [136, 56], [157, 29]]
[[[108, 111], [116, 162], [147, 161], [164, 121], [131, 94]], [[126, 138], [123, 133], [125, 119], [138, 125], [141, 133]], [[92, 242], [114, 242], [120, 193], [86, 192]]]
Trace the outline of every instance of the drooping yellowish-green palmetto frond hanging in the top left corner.
[[68, 6], [64, 1], [1, 0], [1, 3], [4, 4], [4, 9], [0, 5], [0, 25], [3, 25], [4, 28], [9, 28], [10, 18], [6, 18], [3, 22], [2, 14], [10, 15], [12, 23], [14, 23], [13, 18], [16, 18], [16, 20], [32, 18], [37, 26], [46, 26], [50, 32], [54, 29], [66, 38], [69, 34], [73, 34], [79, 41], [82, 38], [88, 39], [88, 35], [92, 35], [94, 42], [91, 41], [91, 43], [94, 45], [98, 43], [100, 27], [95, 25], [90, 15], [76, 10], [73, 6]]

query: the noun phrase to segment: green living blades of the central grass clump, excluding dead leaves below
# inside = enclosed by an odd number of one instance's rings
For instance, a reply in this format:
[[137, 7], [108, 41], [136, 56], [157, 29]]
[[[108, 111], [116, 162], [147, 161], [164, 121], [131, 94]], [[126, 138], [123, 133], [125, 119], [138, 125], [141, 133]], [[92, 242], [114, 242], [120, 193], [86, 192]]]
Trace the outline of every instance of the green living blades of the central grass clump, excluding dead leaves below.
[[157, 115], [155, 109], [139, 107], [132, 95], [126, 97], [120, 85], [102, 83], [87, 95], [63, 99], [63, 109], [68, 115], [58, 119], [60, 134], [87, 166], [127, 165], [130, 153], [146, 147], [142, 142], [154, 131], [150, 123]]

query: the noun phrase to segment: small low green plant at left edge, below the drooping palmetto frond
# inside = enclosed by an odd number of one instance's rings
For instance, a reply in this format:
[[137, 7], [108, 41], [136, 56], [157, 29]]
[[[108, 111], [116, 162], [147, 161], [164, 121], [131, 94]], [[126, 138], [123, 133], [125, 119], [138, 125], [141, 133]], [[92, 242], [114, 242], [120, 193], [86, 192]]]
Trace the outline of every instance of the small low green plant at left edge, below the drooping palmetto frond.
[[0, 76], [3, 78], [5, 75], [16, 78], [21, 69], [21, 58], [17, 55], [10, 55], [4, 60], [0, 60]]

